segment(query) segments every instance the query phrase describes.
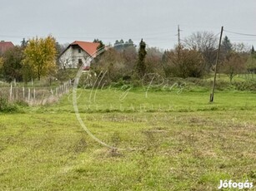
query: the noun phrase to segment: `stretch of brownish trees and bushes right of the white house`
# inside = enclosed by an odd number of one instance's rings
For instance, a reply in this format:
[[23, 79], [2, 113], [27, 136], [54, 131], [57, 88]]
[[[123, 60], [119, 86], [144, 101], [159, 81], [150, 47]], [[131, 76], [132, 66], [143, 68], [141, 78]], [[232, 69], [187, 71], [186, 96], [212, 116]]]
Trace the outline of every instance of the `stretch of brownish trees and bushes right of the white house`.
[[[213, 71], [218, 51], [218, 37], [212, 32], [193, 33], [173, 50], [164, 52], [146, 47], [143, 40], [138, 51], [135, 46], [125, 47], [128, 42], [121, 42], [117, 41], [93, 63], [94, 71], [108, 71], [107, 81], [141, 79], [147, 73], [165, 77], [202, 77]], [[227, 74], [230, 81], [238, 73], [256, 71], [253, 47], [250, 51], [243, 43], [232, 43], [224, 37], [220, 52], [218, 72]]]

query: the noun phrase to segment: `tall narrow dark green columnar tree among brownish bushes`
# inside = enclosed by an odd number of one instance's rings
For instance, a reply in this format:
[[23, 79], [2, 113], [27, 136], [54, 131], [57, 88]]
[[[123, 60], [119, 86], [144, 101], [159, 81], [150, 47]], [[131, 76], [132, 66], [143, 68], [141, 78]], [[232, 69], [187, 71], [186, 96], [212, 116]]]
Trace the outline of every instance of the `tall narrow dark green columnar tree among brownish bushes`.
[[139, 43], [139, 50], [138, 50], [138, 62], [137, 62], [137, 72], [138, 76], [142, 78], [147, 70], [147, 66], [145, 64], [145, 57], [147, 55], [146, 51], [146, 43], [143, 42], [143, 39]]

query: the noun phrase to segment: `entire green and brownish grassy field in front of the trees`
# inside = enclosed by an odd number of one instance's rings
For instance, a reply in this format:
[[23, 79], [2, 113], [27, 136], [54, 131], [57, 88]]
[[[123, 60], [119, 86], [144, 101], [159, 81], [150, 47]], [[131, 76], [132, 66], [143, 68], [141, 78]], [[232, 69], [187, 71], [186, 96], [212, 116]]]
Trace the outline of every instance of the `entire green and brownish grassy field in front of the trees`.
[[[146, 93], [147, 92], [147, 93]], [[79, 90], [0, 114], [0, 190], [217, 190], [256, 186], [256, 94]], [[84, 125], [109, 149], [93, 140]]]

